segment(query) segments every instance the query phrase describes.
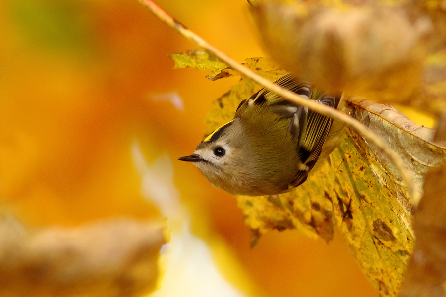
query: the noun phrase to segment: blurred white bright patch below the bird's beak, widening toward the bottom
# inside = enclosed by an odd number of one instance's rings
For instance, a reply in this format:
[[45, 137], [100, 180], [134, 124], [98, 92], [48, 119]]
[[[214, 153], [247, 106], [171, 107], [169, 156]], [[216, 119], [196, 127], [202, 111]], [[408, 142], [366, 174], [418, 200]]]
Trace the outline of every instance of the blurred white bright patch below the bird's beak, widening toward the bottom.
[[137, 142], [133, 160], [142, 177], [142, 193], [168, 217], [170, 242], [162, 248], [165, 274], [161, 288], [150, 297], [243, 297], [214, 264], [205, 242], [194, 236], [189, 218], [173, 182], [173, 165], [167, 155], [148, 164]]

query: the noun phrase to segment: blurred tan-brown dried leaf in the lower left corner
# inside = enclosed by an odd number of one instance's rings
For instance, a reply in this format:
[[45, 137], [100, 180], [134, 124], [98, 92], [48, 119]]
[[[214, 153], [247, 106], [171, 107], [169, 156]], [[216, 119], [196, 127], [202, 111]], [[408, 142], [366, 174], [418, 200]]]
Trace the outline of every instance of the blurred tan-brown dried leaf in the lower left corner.
[[30, 232], [0, 221], [1, 296], [140, 296], [155, 289], [160, 224], [102, 221]]

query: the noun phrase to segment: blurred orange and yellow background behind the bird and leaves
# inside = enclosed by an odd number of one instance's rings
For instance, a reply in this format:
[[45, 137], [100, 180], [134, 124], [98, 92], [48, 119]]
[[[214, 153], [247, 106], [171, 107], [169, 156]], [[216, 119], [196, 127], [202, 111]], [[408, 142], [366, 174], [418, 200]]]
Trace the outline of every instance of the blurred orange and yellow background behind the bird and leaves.
[[[267, 55], [243, 0], [156, 2], [240, 62]], [[377, 296], [339, 232], [329, 244], [272, 232], [250, 249], [235, 198], [176, 161], [201, 141], [211, 102], [236, 78], [172, 69], [168, 54], [198, 48], [139, 2], [1, 1], [0, 38], [2, 208], [30, 226], [159, 216], [141, 194], [137, 140], [149, 163], [168, 154], [193, 230], [222, 239], [265, 296]], [[151, 99], [170, 92], [184, 111]]]

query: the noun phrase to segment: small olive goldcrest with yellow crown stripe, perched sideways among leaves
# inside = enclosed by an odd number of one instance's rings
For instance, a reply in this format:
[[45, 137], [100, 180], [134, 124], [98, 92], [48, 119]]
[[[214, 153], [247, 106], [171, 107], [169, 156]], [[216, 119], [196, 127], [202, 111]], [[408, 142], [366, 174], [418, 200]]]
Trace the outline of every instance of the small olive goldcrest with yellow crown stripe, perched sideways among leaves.
[[[333, 108], [341, 98], [312, 89], [291, 74], [275, 81]], [[343, 102], [343, 100], [342, 100]], [[275, 195], [302, 184], [318, 160], [340, 143], [343, 125], [265, 89], [241, 101], [234, 118], [206, 137], [190, 156], [217, 188], [232, 195]]]

